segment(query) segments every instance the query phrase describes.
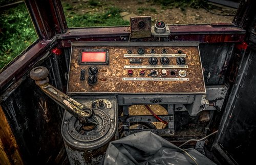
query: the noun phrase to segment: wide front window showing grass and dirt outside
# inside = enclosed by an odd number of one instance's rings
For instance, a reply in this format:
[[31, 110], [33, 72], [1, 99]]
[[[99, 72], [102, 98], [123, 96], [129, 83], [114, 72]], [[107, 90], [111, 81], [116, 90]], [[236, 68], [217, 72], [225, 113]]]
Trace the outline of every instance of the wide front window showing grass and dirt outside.
[[[232, 22], [239, 0], [62, 0], [69, 27], [129, 25], [131, 16], [166, 24]], [[217, 4], [221, 3], [221, 4]]]

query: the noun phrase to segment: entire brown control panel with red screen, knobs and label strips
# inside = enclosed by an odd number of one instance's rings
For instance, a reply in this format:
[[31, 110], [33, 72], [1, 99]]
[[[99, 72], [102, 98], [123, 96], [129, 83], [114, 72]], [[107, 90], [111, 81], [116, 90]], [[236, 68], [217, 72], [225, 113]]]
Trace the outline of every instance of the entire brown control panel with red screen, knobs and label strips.
[[205, 94], [198, 42], [72, 42], [68, 94]]

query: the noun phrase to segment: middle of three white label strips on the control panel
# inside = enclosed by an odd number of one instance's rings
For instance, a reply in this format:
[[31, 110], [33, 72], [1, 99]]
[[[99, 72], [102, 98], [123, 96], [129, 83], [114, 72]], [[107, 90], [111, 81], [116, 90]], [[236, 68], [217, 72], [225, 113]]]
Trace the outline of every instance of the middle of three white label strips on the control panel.
[[124, 65], [124, 69], [178, 69], [188, 68], [187, 65]]

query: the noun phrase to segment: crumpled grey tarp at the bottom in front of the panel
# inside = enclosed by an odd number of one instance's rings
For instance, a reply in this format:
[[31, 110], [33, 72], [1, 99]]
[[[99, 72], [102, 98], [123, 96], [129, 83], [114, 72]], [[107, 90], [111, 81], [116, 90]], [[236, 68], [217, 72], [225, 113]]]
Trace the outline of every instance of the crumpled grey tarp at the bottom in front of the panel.
[[184, 151], [152, 132], [143, 131], [111, 142], [106, 151], [104, 164], [215, 163], [195, 149]]

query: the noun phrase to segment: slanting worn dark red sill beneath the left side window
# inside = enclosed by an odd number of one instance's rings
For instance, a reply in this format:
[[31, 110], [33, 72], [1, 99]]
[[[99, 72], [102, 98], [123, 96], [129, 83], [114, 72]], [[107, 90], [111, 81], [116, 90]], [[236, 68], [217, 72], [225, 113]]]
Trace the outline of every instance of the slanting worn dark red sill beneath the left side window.
[[8, 82], [22, 77], [53, 46], [54, 41], [55, 39], [39, 41], [10, 65], [8, 69], [3, 70], [0, 73], [0, 89], [3, 90]]

